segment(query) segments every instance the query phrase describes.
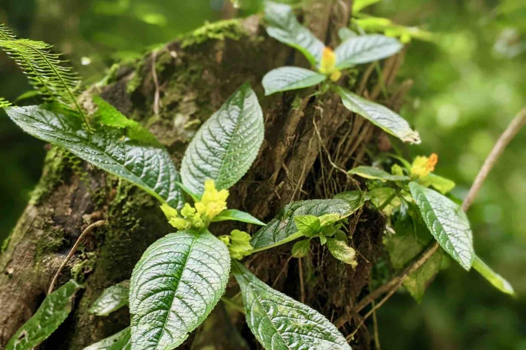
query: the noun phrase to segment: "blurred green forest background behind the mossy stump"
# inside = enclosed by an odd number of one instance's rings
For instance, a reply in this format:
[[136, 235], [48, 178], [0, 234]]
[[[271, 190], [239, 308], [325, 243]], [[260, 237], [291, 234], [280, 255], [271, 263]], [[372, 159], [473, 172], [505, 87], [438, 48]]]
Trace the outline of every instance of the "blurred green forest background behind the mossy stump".
[[[223, 0], [2, 0], [0, 23], [20, 37], [66, 53], [93, 83], [119, 60], [221, 18]], [[364, 13], [419, 26], [400, 79], [411, 78], [402, 115], [436, 152], [436, 173], [457, 182], [462, 198], [508, 122], [526, 106], [524, 0], [383, 0]], [[28, 90], [24, 75], [0, 55], [0, 96]], [[13, 228], [40, 176], [43, 142], [0, 115], [0, 240]], [[439, 274], [420, 304], [397, 293], [378, 312], [384, 349], [526, 349], [526, 130], [490, 174], [469, 211], [475, 248], [518, 293], [500, 294], [456, 264]]]

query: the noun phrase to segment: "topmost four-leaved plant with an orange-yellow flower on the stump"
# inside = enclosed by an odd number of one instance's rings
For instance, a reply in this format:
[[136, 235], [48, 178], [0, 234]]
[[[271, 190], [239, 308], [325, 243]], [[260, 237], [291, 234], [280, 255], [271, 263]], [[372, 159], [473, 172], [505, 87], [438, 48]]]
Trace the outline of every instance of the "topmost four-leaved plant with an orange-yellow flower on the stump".
[[346, 38], [335, 49], [326, 47], [310, 30], [298, 23], [292, 8], [285, 4], [267, 2], [265, 19], [269, 36], [299, 50], [312, 69], [279, 67], [263, 77], [265, 94], [302, 89], [322, 83], [322, 91], [330, 88], [340, 95], [343, 106], [371, 121], [374, 125], [404, 142], [420, 143], [418, 132], [409, 123], [387, 107], [371, 102], [337, 85], [342, 71], [353, 66], [370, 63], [399, 52], [402, 44], [380, 34]]

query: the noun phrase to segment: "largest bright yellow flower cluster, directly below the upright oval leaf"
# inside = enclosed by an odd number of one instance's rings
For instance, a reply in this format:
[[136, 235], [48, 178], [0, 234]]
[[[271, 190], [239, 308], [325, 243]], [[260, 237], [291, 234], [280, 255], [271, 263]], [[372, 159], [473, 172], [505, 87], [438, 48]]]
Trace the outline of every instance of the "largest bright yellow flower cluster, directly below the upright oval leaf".
[[210, 220], [227, 209], [228, 190], [216, 189], [214, 180], [205, 181], [205, 192], [201, 200], [194, 204], [185, 203], [181, 213], [171, 208], [168, 204], [161, 205], [168, 222], [178, 230], [205, 227]]

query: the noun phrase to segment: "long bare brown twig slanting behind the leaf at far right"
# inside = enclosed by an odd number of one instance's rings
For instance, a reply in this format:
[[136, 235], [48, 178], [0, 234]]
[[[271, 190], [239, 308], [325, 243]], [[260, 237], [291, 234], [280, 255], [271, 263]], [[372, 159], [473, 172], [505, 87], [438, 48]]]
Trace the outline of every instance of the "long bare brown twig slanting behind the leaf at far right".
[[[488, 173], [491, 171], [499, 157], [502, 155], [502, 152], [504, 151], [505, 147], [508, 146], [513, 137], [517, 135], [519, 130], [524, 125], [526, 125], [526, 108], [523, 108], [519, 111], [517, 116], [515, 116], [515, 118], [513, 118], [513, 120], [510, 122], [508, 128], [506, 128], [506, 130], [504, 130], [502, 135], [499, 137], [497, 143], [495, 143], [495, 146], [491, 150], [482, 168], [480, 169], [475, 181], [473, 182], [471, 189], [469, 190], [469, 193], [466, 196], [466, 199], [464, 199], [464, 201], [462, 202], [461, 208], [464, 212], [469, 209], [471, 203], [473, 203], [473, 200], [477, 197], [477, 194], [479, 193], [479, 190], [481, 189], [485, 178], [488, 176]], [[407, 279], [407, 277], [409, 277], [409, 275], [412, 272], [416, 271], [420, 266], [422, 266], [422, 264], [427, 262], [439, 247], [440, 245], [438, 242], [432, 243], [426, 249], [426, 251], [424, 251], [419, 256], [418, 259], [413, 260], [413, 262], [409, 264], [401, 273], [393, 277], [387, 283], [378, 287], [378, 289], [376, 289], [375, 291], [369, 293], [369, 295], [367, 295], [358, 304], [356, 304], [356, 306], [353, 308], [353, 311], [360, 312], [364, 307], [369, 305], [373, 300], [375, 300], [383, 293], [389, 292], [388, 296], [391, 296], [394, 293], [393, 291], [398, 290], [400, 285], [402, 285], [402, 283]], [[341, 325], [336, 326], [338, 327]]]

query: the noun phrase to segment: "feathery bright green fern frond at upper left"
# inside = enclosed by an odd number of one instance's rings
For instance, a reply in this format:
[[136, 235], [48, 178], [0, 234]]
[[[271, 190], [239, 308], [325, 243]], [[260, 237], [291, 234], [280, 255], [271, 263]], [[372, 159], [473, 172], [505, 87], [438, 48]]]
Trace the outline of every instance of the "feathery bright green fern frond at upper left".
[[22, 68], [40, 94], [64, 105], [75, 106], [84, 116], [77, 104], [79, 76], [68, 61], [50, 51], [51, 45], [19, 39], [4, 24], [0, 24], [0, 47]]

